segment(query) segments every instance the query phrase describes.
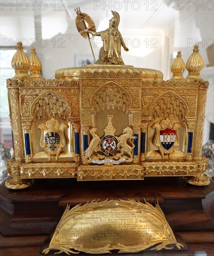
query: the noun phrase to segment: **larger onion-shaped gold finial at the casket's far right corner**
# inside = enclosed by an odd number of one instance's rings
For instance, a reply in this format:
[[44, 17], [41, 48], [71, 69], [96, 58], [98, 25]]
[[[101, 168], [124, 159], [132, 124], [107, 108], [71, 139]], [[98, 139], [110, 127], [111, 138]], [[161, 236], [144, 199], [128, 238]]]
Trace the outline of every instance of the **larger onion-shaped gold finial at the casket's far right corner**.
[[186, 67], [189, 72], [187, 75], [188, 80], [202, 80], [200, 71], [204, 67], [204, 61], [199, 53], [198, 45], [194, 46], [193, 53], [188, 58]]

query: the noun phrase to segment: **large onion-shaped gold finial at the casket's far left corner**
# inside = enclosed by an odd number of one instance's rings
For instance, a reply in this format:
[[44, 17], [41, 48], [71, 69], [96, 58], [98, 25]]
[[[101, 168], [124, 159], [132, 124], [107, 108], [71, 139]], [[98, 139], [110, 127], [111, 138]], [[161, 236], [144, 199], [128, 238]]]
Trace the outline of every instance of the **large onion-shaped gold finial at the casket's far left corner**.
[[13, 55], [11, 66], [15, 69], [14, 78], [29, 77], [28, 69], [30, 68], [30, 61], [27, 54], [23, 51], [22, 42], [17, 43], [17, 51]]

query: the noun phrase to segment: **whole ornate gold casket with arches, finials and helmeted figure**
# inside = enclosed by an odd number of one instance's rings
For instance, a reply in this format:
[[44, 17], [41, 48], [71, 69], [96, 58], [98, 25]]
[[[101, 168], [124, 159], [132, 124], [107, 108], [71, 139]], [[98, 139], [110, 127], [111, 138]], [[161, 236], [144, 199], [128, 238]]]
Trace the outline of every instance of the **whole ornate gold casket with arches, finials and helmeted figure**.
[[15, 76], [7, 80], [14, 154], [6, 186], [25, 188], [33, 178], [147, 176], [208, 184], [201, 155], [208, 82], [200, 76], [199, 47], [186, 65], [179, 51], [165, 81], [159, 70], [124, 64], [119, 13], [112, 11], [109, 27], [97, 32], [86, 13], [76, 12], [80, 34], [103, 40], [96, 64], [61, 68], [46, 80], [35, 49], [28, 58], [17, 43]]

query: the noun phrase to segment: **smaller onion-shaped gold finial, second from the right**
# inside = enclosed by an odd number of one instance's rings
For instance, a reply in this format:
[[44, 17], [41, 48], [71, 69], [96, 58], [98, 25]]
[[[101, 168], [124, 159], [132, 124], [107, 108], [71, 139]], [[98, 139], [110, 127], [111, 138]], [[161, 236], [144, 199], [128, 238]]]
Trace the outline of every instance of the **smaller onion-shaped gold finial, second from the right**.
[[178, 51], [177, 58], [173, 61], [173, 64], [171, 66], [171, 71], [173, 73], [173, 76], [170, 80], [182, 80], [184, 79], [183, 73], [186, 70], [186, 66], [184, 61], [181, 58], [181, 51]]

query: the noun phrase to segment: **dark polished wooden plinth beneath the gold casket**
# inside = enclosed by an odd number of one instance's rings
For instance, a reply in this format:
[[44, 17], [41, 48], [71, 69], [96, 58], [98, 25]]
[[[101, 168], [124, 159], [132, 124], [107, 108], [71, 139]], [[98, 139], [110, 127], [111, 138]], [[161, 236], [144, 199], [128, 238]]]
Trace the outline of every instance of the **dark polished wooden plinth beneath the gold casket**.
[[134, 199], [144, 202], [144, 198], [150, 203], [160, 203], [176, 238], [185, 243], [185, 247], [182, 251], [147, 250], [125, 255], [194, 256], [199, 251], [206, 252], [207, 256], [214, 255], [214, 182], [197, 187], [187, 184], [181, 177], [98, 182], [37, 179], [32, 187], [24, 190], [10, 190], [2, 183], [0, 255], [42, 255], [41, 251], [48, 246], [49, 237], [67, 203], [74, 206], [97, 199]]

